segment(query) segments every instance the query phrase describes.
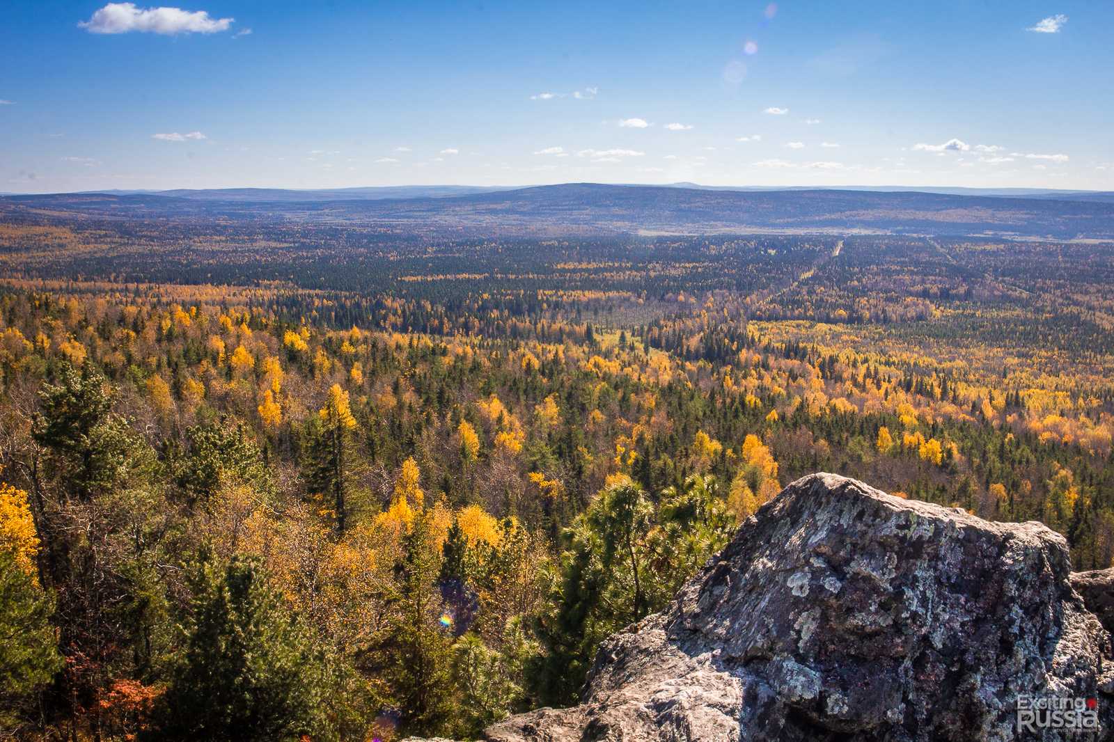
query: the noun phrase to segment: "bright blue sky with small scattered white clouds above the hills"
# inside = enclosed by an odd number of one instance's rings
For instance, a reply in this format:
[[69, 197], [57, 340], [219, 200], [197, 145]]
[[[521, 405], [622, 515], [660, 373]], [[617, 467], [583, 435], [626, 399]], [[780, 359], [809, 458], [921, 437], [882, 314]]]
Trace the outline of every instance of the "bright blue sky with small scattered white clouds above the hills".
[[0, 7], [0, 191], [1114, 189], [1111, 2], [167, 1]]

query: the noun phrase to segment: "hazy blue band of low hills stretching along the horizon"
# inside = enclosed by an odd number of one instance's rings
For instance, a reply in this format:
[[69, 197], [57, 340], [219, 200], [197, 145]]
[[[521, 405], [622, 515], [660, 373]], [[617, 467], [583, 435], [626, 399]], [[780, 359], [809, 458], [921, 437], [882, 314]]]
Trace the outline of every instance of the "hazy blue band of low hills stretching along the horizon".
[[[455, 186], [453, 186], [455, 187]], [[421, 196], [403, 196], [408, 189]], [[452, 195], [442, 187], [304, 192], [232, 189], [159, 194], [8, 196], [19, 209], [119, 218], [301, 218], [471, 233], [714, 233], [868, 231], [1114, 238], [1114, 201], [1089, 194], [968, 195], [913, 191], [734, 191], [570, 183]], [[446, 186], [444, 188], [448, 188]], [[430, 193], [430, 192], [433, 193]], [[379, 197], [369, 197], [374, 192]], [[322, 192], [315, 192], [322, 193]], [[393, 193], [393, 197], [385, 194]], [[198, 195], [204, 194], [204, 195]], [[436, 195], [434, 195], [436, 194]], [[343, 196], [352, 196], [344, 198]]]

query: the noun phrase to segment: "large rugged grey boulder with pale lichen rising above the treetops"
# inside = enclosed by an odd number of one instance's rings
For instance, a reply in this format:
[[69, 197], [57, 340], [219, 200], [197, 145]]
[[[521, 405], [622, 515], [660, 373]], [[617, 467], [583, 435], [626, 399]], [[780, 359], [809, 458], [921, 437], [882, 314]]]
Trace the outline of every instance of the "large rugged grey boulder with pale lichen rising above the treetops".
[[486, 738], [1103, 739], [1022, 732], [1017, 701], [1093, 699], [1114, 729], [1110, 642], [1045, 526], [820, 473], [762, 507], [667, 609], [605, 642], [580, 705]]

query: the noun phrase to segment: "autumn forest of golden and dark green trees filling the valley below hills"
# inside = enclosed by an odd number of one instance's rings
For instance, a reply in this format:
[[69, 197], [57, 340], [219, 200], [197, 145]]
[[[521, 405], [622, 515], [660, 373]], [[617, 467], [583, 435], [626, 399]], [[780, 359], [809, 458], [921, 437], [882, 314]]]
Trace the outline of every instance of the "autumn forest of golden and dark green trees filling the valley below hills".
[[0, 224], [0, 735], [473, 738], [818, 470], [1114, 562], [1114, 250]]

